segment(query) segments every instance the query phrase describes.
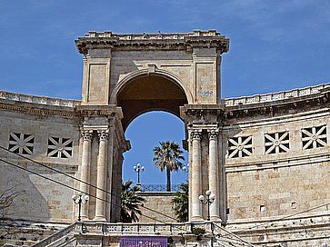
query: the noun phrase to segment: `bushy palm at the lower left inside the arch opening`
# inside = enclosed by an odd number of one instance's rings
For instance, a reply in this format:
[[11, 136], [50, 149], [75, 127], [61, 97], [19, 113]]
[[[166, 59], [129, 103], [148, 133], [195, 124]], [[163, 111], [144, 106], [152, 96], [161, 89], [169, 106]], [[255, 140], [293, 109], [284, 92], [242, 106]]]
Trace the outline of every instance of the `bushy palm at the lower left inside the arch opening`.
[[121, 222], [137, 222], [137, 214], [141, 215], [139, 206], [143, 205], [145, 198], [137, 195], [136, 193], [140, 191], [138, 186], [131, 187], [133, 181], [126, 181], [122, 183], [122, 205], [120, 212]]

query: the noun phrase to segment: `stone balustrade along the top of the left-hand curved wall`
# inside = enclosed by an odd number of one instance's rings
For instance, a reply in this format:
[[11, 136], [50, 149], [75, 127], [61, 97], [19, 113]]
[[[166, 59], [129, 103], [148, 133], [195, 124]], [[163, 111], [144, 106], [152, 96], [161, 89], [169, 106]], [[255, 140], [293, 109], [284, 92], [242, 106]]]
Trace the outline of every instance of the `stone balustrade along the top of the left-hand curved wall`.
[[33, 104], [47, 104], [55, 106], [66, 106], [66, 107], [75, 107], [80, 104], [78, 100], [66, 100], [45, 96], [35, 96], [30, 94], [16, 94], [5, 91], [0, 91], [0, 99], [10, 100], [10, 101], [19, 101], [25, 103]]

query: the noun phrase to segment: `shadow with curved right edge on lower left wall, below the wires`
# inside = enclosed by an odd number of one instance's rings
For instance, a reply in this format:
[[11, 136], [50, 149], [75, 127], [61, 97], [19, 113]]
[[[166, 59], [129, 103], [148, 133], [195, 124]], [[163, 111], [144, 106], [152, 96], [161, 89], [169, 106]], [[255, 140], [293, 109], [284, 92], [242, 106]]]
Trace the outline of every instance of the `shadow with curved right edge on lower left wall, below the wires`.
[[[0, 217], [31, 221], [50, 219], [48, 203], [39, 192], [43, 188], [35, 187], [35, 182], [40, 184], [42, 178], [6, 163], [0, 163], [0, 174], [0, 194], [5, 191], [7, 194], [15, 193], [13, 202], [4, 209], [4, 216]], [[43, 187], [47, 187], [47, 183], [44, 182]]]

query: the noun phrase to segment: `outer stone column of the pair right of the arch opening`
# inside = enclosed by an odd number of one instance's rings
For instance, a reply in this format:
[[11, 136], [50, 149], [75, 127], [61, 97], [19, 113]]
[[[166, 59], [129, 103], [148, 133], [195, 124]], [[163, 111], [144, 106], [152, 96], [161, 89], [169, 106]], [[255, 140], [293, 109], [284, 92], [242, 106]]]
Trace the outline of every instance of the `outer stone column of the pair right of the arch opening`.
[[208, 186], [211, 193], [215, 194], [215, 201], [210, 205], [210, 218], [211, 221], [220, 220], [219, 209], [219, 183], [218, 183], [218, 132], [208, 132]]

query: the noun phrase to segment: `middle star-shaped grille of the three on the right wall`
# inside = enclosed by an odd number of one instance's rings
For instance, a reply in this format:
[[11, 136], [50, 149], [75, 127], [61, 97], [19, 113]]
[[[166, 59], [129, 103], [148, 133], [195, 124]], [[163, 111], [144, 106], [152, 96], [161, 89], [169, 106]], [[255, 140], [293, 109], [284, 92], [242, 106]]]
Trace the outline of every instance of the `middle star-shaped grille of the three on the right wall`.
[[289, 149], [289, 132], [265, 133], [265, 154], [286, 153]]

